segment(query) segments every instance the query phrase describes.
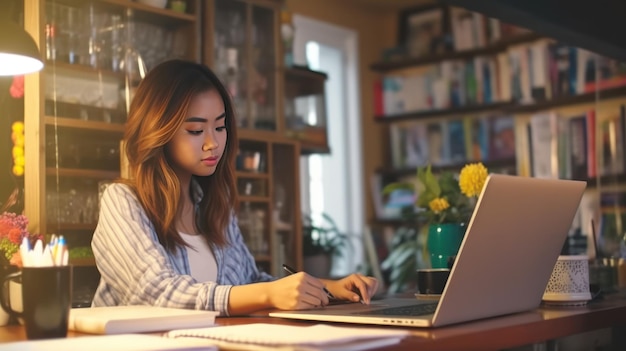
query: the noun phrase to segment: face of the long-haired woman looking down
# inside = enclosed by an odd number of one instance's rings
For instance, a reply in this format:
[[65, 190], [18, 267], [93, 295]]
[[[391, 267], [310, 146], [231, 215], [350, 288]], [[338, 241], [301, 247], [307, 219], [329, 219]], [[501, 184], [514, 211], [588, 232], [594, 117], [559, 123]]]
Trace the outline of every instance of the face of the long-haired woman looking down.
[[185, 122], [166, 145], [166, 155], [181, 180], [209, 176], [217, 168], [227, 139], [224, 102], [211, 89], [191, 100]]

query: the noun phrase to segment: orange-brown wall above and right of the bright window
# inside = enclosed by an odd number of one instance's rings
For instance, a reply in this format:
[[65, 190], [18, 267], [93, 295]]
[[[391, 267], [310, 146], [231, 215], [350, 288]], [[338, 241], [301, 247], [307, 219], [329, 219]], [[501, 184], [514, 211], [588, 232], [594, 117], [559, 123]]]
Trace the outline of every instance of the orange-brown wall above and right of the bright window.
[[[374, 217], [369, 176], [384, 163], [388, 143], [387, 127], [374, 122], [373, 83], [376, 74], [370, 64], [380, 60], [384, 48], [394, 45], [396, 40], [397, 14], [375, 6], [357, 4], [352, 0], [286, 0], [287, 8], [293, 13], [314, 18], [347, 29], [354, 30], [359, 37], [359, 83], [362, 117], [363, 194], [366, 199], [366, 219]], [[296, 30], [298, 30], [296, 28]], [[329, 116], [338, 118], [339, 116]]]

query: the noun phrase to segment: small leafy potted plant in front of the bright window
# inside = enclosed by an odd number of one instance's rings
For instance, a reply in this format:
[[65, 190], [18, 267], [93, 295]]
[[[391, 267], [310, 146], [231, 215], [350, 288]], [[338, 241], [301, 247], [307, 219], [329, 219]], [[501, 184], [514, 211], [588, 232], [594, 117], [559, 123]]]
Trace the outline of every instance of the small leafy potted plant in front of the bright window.
[[349, 235], [342, 233], [328, 214], [303, 216], [302, 255], [306, 272], [328, 278], [333, 257], [340, 256], [350, 245]]

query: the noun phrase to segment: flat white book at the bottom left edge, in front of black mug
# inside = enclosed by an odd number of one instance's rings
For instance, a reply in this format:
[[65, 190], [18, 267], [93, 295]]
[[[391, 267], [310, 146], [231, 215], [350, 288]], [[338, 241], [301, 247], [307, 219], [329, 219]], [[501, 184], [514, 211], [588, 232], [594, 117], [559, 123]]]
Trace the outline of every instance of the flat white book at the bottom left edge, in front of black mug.
[[198, 339], [169, 339], [160, 335], [89, 335], [79, 338], [28, 340], [0, 344], [0, 351], [217, 351], [217, 346]]

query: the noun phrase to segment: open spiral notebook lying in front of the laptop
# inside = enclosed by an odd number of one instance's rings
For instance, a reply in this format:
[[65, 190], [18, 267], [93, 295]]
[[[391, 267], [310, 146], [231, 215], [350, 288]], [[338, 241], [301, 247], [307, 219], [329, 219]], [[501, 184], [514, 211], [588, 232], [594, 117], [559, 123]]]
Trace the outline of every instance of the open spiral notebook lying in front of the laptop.
[[410, 335], [408, 330], [251, 323], [172, 330], [169, 338], [202, 338], [220, 348], [237, 350], [367, 350], [397, 344]]

